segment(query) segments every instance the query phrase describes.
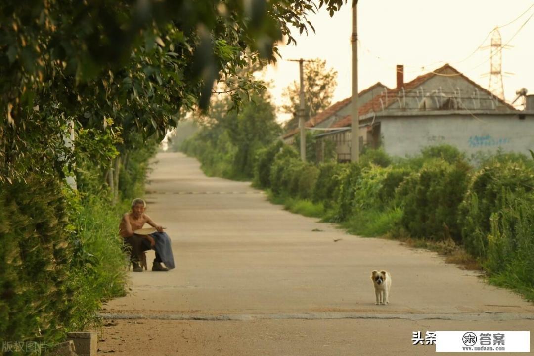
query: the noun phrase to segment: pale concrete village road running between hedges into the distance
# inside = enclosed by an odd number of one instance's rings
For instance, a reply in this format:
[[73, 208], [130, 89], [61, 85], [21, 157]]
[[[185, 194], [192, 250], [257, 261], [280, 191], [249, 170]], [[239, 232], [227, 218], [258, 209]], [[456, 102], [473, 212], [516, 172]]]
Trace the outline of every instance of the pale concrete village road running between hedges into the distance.
[[[99, 355], [434, 354], [412, 331], [534, 331], [534, 306], [433, 252], [295, 215], [183, 154], [156, 159], [147, 213], [177, 268], [130, 272], [130, 294], [103, 310]], [[387, 306], [375, 269], [392, 275]]]

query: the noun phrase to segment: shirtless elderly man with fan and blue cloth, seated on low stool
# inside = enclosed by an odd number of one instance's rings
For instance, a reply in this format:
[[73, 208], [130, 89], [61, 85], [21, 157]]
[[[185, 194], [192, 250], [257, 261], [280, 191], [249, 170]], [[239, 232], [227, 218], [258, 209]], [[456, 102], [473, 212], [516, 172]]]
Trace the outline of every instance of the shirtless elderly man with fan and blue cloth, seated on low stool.
[[[130, 260], [133, 265], [133, 272], [143, 272], [143, 268], [139, 266], [139, 255], [150, 249], [154, 249], [156, 252], [152, 271], [167, 272], [169, 268], [174, 268], [169, 236], [163, 232], [163, 227], [154, 223], [150, 216], [145, 214], [145, 201], [139, 198], [134, 199], [131, 208], [132, 211], [125, 213], [122, 217], [119, 234], [124, 239], [124, 243], [131, 246]], [[158, 232], [151, 235], [134, 233], [134, 231], [143, 228], [145, 223], [154, 227]], [[161, 262], [164, 262], [169, 268], [163, 267]]]

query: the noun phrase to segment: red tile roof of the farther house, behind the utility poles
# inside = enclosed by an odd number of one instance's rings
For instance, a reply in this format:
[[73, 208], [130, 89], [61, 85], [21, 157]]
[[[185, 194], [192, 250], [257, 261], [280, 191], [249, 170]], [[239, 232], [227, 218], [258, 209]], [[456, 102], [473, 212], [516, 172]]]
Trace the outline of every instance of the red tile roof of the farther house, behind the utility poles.
[[[369, 88], [360, 92], [359, 102], [362, 104], [366, 104], [368, 101], [378, 96], [384, 90], [390, 89], [386, 85], [377, 82], [371, 85]], [[334, 123], [350, 114], [351, 99], [352, 98], [347, 98], [329, 106], [328, 108], [305, 122], [305, 127], [309, 129], [329, 128]], [[290, 130], [289, 132], [286, 132], [284, 136], [282, 136], [282, 139], [284, 139], [284, 142], [286, 144], [292, 144], [297, 136], [297, 133], [299, 133], [298, 128]]]

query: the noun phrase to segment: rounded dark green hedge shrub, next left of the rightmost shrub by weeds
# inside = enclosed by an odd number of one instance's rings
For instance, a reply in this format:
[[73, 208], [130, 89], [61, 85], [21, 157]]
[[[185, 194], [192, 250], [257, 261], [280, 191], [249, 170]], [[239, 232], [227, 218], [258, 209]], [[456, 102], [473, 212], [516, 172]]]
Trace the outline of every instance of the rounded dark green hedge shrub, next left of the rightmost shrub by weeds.
[[414, 238], [460, 241], [458, 206], [467, 191], [468, 170], [465, 162], [435, 159], [399, 186], [401, 222]]

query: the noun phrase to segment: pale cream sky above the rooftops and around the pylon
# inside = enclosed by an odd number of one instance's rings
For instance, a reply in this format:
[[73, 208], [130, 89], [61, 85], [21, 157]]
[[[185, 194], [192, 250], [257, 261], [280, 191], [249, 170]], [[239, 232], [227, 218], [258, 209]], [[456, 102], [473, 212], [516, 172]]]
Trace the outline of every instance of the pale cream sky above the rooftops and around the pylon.
[[[315, 34], [310, 31], [308, 36], [305, 33], [297, 35], [296, 46], [280, 46], [282, 59], [265, 73], [265, 79], [273, 81], [270, 91], [276, 104], [282, 103], [284, 88], [299, 79], [299, 64], [287, 59], [326, 60], [327, 66], [338, 73], [333, 103], [351, 95], [352, 14], [351, 0], [348, 2], [333, 18], [320, 9], [318, 14], [310, 17]], [[378, 81], [394, 88], [397, 64], [404, 65], [404, 81], [409, 82], [445, 63], [488, 89], [489, 76], [481, 75], [490, 72], [490, 49], [477, 48], [489, 46], [491, 34], [488, 34], [494, 27], [512, 22], [531, 5], [534, 5], [533, 0], [360, 0], [359, 90]], [[509, 42], [512, 47], [502, 50], [502, 79], [508, 102], [522, 87], [534, 94], [533, 14], [534, 6], [513, 23], [499, 29], [502, 44]], [[532, 18], [520, 29], [531, 15]], [[279, 121], [289, 117], [278, 114]]]

